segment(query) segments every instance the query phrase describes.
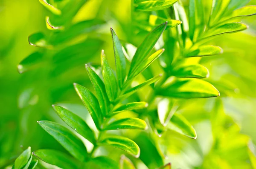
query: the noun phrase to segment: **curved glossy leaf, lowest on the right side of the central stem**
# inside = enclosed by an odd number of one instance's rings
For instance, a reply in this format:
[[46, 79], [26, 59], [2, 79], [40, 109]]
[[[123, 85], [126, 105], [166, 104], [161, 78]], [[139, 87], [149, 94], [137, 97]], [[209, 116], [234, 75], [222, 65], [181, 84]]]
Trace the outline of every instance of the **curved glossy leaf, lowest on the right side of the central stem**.
[[131, 139], [122, 136], [108, 136], [100, 142], [100, 144], [105, 146], [113, 146], [117, 149], [122, 149], [125, 152], [133, 155], [135, 158], [140, 156], [139, 146]]

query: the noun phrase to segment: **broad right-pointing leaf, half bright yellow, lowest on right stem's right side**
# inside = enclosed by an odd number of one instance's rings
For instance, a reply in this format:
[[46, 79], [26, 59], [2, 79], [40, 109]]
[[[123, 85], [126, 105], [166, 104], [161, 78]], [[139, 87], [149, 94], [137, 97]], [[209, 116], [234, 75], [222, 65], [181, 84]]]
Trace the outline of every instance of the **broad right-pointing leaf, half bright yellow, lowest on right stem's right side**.
[[200, 79], [176, 80], [169, 86], [160, 89], [161, 96], [177, 98], [217, 97], [218, 90], [210, 83]]

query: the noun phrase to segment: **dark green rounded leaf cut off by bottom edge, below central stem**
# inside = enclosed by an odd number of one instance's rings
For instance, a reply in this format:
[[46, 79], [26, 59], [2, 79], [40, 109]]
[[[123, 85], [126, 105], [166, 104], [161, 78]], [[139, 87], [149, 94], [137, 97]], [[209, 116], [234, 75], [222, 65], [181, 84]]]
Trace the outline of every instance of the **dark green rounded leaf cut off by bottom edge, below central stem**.
[[86, 169], [119, 169], [118, 164], [114, 160], [104, 156], [87, 161], [84, 167]]

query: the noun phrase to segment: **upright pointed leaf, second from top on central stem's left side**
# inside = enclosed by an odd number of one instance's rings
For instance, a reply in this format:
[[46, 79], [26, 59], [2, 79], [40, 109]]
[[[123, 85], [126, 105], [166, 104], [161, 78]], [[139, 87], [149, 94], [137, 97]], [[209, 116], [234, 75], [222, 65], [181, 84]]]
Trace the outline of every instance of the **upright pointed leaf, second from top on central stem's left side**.
[[104, 51], [101, 53], [101, 63], [102, 63], [102, 76], [105, 82], [106, 92], [110, 101], [114, 101], [117, 96], [118, 86], [116, 83], [116, 77], [105, 57]]

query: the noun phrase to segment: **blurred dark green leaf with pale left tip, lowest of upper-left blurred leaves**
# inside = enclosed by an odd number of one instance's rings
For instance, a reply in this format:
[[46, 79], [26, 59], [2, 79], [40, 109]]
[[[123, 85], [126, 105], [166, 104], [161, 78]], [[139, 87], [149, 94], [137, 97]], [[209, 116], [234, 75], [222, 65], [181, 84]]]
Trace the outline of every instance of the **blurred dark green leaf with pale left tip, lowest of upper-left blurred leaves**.
[[24, 73], [28, 70], [31, 70], [33, 68], [36, 68], [40, 63], [42, 63], [43, 60], [43, 54], [40, 52], [35, 52], [33, 54], [30, 54], [28, 57], [23, 59], [18, 67], [18, 72]]

